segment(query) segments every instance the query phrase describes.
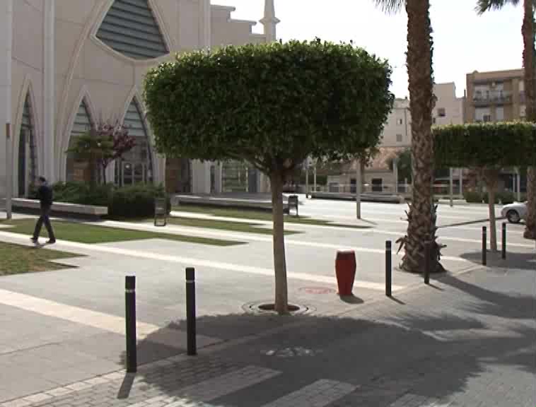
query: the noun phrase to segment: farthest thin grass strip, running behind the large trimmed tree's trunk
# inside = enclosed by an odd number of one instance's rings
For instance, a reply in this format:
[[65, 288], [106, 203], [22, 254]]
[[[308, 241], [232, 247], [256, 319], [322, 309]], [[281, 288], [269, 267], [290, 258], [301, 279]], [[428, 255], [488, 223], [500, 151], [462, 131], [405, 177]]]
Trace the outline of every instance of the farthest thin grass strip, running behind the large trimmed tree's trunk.
[[[214, 208], [211, 206], [180, 205], [180, 206], [173, 206], [173, 211], [204, 213], [205, 215], [221, 216], [221, 217], [226, 217], [226, 218], [240, 218], [240, 219], [267, 220], [267, 221], [272, 220], [272, 212], [255, 211], [254, 209]], [[350, 228], [350, 229], [370, 228], [370, 226], [344, 225], [344, 223], [332, 223], [330, 222], [330, 220], [313, 219], [313, 218], [308, 218], [307, 216], [301, 216], [300, 218], [296, 218], [295, 216], [285, 215], [285, 223], [296, 223], [298, 225], [337, 226], [337, 228]]]

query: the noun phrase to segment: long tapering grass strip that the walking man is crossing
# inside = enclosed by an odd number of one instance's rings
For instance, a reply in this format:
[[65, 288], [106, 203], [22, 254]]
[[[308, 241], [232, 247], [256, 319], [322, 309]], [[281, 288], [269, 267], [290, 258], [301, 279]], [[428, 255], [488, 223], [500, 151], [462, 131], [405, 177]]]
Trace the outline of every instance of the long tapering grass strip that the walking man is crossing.
[[[2, 232], [13, 232], [28, 235], [28, 239], [33, 233], [35, 219], [18, 219], [4, 221], [3, 225], [13, 225], [13, 228], [2, 228]], [[172, 235], [169, 233], [146, 232], [144, 230], [131, 230], [122, 228], [108, 228], [106, 226], [87, 225], [83, 223], [68, 222], [65, 220], [52, 221], [52, 228], [58, 239], [70, 240], [78, 243], [110, 243], [127, 242], [129, 240], [146, 239], [166, 239], [177, 242], [188, 242], [197, 244], [210, 244], [212, 246], [234, 246], [244, 244], [243, 242], [233, 242], [231, 240], [209, 239], [206, 237], [193, 237], [185, 235]], [[48, 237], [47, 230], [43, 227], [41, 237]]]

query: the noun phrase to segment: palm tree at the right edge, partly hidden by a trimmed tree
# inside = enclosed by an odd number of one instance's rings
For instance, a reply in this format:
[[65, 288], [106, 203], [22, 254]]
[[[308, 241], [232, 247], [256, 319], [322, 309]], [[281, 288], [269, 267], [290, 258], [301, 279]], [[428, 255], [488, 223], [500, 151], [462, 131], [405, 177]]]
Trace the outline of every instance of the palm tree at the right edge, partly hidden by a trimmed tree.
[[[485, 13], [489, 10], [500, 10], [506, 4], [517, 6], [520, 0], [478, 0], [477, 12]], [[535, 65], [535, 8], [536, 0], [523, 0], [523, 67], [525, 69], [525, 104], [526, 117], [529, 122], [536, 123], [536, 65]], [[528, 189], [528, 217], [525, 228], [525, 238], [536, 239], [536, 167], [529, 167], [527, 171]]]

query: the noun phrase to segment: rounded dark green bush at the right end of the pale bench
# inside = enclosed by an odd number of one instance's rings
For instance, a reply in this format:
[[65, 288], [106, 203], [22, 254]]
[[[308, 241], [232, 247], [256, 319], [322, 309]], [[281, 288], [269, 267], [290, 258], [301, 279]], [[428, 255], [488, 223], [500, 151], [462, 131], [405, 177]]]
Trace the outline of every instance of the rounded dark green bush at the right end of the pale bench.
[[170, 211], [170, 198], [162, 186], [133, 185], [115, 189], [108, 204], [108, 216], [112, 218], [148, 218], [154, 216], [154, 200], [166, 198]]

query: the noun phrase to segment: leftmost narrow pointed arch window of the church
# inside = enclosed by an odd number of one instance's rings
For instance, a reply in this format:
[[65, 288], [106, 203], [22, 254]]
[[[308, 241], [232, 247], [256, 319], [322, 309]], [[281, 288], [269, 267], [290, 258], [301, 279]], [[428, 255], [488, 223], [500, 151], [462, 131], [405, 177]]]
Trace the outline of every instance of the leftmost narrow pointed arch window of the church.
[[37, 177], [37, 148], [33, 126], [30, 94], [26, 95], [18, 142], [18, 195], [28, 196], [29, 188]]

